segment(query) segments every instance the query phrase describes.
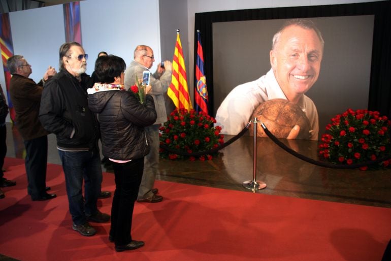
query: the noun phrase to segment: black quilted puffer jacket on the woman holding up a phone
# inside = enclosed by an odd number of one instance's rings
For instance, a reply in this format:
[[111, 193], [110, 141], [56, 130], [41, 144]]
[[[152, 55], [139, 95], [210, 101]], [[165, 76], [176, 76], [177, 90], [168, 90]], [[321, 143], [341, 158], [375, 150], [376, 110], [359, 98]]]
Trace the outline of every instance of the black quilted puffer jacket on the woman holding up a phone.
[[144, 127], [156, 120], [152, 96], [147, 95], [142, 105], [129, 91], [106, 90], [88, 94], [88, 105], [91, 111], [98, 113], [105, 157], [129, 160], [148, 154]]

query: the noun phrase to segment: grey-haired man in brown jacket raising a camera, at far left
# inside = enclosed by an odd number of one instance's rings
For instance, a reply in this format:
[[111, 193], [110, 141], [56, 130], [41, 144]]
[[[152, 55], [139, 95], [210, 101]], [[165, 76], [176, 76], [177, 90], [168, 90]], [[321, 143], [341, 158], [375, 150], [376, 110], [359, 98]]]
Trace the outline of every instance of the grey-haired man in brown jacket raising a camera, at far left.
[[56, 194], [46, 192], [50, 189], [46, 187], [48, 132], [39, 121], [38, 112], [42, 86], [56, 71], [49, 67], [44, 78], [37, 84], [28, 78], [32, 73], [31, 66], [22, 55], [8, 58], [7, 67], [12, 74], [10, 96], [16, 113], [15, 124], [26, 148], [27, 193], [32, 201], [53, 199]]

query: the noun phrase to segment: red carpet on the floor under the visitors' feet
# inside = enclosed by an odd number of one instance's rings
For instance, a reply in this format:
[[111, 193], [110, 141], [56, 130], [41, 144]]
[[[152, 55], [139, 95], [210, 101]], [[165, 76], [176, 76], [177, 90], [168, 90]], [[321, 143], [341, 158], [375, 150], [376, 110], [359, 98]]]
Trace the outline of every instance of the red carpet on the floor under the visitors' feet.
[[[23, 161], [7, 158], [0, 200], [0, 253], [30, 260], [381, 260], [391, 238], [391, 209], [157, 181], [165, 200], [136, 204], [133, 237], [145, 246], [117, 253], [110, 224], [97, 235], [72, 230], [61, 166], [49, 165], [57, 198], [32, 202]], [[114, 191], [104, 174], [103, 190]], [[110, 213], [111, 200], [99, 201]]]

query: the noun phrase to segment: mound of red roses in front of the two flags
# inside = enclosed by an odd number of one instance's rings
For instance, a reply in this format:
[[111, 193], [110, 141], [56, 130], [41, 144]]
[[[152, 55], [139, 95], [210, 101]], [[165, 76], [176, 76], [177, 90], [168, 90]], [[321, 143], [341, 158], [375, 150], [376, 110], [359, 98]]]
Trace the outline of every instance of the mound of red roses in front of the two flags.
[[[221, 127], [213, 127], [216, 120], [205, 112], [197, 113], [195, 110], [174, 110], [167, 121], [160, 127], [160, 144], [168, 148], [187, 153], [207, 151], [224, 143], [224, 136], [220, 134]], [[160, 148], [160, 156], [169, 159], [189, 158]], [[201, 161], [211, 160], [212, 155], [202, 155]]]

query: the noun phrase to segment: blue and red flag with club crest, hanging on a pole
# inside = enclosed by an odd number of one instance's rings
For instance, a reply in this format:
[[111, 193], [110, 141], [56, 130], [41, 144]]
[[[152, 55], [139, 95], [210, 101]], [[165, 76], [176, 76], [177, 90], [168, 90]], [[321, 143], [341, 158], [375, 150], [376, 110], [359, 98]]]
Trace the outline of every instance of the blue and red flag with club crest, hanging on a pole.
[[197, 31], [197, 65], [196, 65], [196, 86], [194, 87], [194, 109], [197, 112], [203, 111], [208, 113], [208, 90], [206, 88], [206, 77], [204, 73], [204, 53], [201, 45], [201, 33]]

